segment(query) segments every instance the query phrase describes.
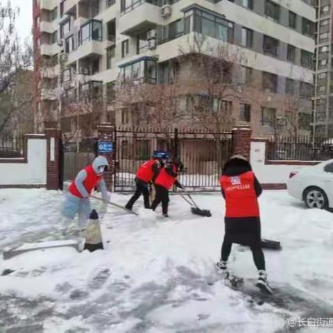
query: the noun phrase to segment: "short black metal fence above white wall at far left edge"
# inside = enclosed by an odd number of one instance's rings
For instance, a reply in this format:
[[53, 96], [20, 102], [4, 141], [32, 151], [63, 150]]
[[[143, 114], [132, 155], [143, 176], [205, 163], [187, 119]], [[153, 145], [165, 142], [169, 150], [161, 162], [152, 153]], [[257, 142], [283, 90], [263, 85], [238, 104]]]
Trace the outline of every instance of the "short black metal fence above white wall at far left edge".
[[24, 135], [0, 134], [0, 158], [24, 157]]

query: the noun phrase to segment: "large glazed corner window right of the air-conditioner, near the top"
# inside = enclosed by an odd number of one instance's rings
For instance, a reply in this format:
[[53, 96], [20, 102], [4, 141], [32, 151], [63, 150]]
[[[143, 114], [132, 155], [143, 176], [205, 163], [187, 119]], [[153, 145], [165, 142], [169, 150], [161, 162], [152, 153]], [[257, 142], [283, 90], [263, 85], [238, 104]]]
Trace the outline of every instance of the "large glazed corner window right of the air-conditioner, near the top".
[[[190, 12], [186, 12], [185, 16]], [[232, 42], [234, 39], [234, 24], [217, 15], [194, 9], [194, 28], [196, 33], [202, 33], [217, 40]], [[186, 31], [187, 32], [187, 31]]]

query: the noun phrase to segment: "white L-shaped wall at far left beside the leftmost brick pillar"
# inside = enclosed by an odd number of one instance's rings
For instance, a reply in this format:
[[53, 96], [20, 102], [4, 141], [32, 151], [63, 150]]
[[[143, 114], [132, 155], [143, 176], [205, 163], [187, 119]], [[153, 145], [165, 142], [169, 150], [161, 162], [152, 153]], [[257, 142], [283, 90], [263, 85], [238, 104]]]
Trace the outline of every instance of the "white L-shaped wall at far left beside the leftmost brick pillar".
[[0, 185], [46, 185], [46, 138], [28, 139], [27, 163], [0, 159]]

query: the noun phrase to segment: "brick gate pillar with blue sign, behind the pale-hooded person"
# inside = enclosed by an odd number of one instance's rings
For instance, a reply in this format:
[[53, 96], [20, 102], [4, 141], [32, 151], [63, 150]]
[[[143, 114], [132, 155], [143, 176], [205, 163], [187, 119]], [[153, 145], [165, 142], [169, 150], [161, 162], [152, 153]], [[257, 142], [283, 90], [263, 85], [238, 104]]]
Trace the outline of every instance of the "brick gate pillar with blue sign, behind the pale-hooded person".
[[[99, 142], [112, 142], [114, 147], [114, 126], [111, 123], [101, 123], [101, 125], [97, 126], [97, 132], [99, 137]], [[112, 153], [101, 153], [98, 151], [98, 155], [105, 156], [109, 162], [109, 170], [108, 173], [105, 174], [104, 179], [106, 183], [106, 187], [108, 187], [109, 191], [112, 191], [112, 182], [113, 182], [113, 174], [114, 174], [114, 152]]]

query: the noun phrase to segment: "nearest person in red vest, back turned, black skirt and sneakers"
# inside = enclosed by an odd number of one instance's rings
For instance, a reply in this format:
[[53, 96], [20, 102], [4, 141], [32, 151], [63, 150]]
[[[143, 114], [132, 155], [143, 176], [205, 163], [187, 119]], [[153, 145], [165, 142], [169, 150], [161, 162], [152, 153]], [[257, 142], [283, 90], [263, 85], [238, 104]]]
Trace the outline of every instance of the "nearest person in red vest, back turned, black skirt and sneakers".
[[221, 259], [216, 267], [228, 276], [227, 262], [232, 243], [250, 246], [259, 277], [256, 286], [271, 293], [267, 282], [265, 258], [261, 245], [261, 225], [257, 198], [262, 194], [250, 163], [242, 156], [233, 156], [225, 163], [220, 178], [225, 198], [225, 235]]

